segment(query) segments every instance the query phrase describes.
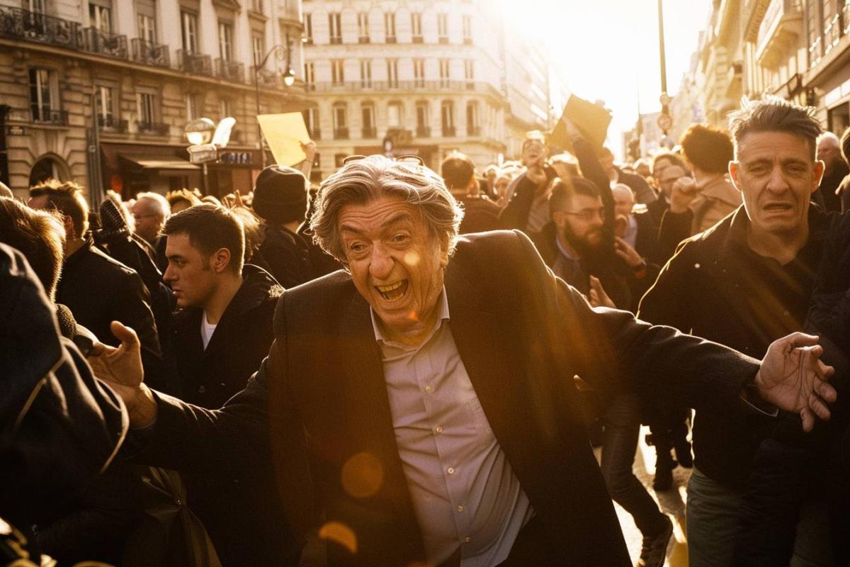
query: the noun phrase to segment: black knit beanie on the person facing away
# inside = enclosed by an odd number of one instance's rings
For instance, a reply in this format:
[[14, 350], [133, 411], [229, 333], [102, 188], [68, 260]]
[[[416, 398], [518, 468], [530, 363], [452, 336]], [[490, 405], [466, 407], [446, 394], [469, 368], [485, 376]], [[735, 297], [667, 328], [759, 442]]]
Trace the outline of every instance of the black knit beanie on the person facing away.
[[257, 176], [252, 207], [270, 224], [302, 221], [307, 214], [307, 179], [292, 167], [266, 167]]

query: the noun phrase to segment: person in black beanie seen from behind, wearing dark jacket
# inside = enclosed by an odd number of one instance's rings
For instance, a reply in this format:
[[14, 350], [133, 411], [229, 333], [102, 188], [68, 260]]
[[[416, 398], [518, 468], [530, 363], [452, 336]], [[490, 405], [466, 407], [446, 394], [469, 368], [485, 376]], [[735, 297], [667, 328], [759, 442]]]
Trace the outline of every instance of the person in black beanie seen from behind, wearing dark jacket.
[[252, 201], [263, 218], [265, 237], [258, 255], [281, 286], [303, 284], [314, 278], [307, 241], [296, 233], [307, 213], [307, 179], [292, 167], [272, 165], [257, 176]]

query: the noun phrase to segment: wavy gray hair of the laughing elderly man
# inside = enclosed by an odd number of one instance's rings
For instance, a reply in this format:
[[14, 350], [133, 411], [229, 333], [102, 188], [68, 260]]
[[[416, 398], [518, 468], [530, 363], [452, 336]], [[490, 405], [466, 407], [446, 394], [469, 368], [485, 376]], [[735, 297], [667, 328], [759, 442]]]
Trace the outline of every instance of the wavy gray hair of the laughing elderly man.
[[339, 213], [348, 205], [365, 205], [385, 196], [416, 207], [431, 235], [448, 242], [449, 254], [454, 251], [463, 209], [443, 179], [428, 167], [378, 155], [348, 162], [322, 182], [310, 219], [314, 241], [348, 265], [337, 229]]

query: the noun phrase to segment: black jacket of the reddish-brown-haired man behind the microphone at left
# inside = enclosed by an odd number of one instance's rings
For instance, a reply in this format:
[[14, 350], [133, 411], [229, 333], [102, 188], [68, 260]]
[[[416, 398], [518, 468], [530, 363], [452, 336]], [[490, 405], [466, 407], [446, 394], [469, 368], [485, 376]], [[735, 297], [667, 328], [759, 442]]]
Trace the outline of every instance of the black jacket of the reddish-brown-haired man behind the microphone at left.
[[169, 388], [147, 288], [133, 269], [95, 247], [91, 235], [65, 258], [56, 303], [71, 309], [77, 323], [101, 343], [118, 346], [110, 330], [112, 321], [132, 327], [142, 344], [145, 380], [150, 380], [151, 387]]

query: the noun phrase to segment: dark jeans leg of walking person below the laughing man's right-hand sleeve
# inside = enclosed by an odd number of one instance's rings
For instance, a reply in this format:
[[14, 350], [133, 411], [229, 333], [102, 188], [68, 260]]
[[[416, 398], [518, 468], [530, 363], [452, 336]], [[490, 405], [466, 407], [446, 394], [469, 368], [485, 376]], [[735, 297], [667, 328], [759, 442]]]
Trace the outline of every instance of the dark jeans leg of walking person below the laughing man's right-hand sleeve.
[[643, 536], [656, 536], [666, 527], [665, 515], [632, 472], [639, 433], [638, 397], [616, 397], [605, 412], [602, 475], [611, 498], [632, 514]]

